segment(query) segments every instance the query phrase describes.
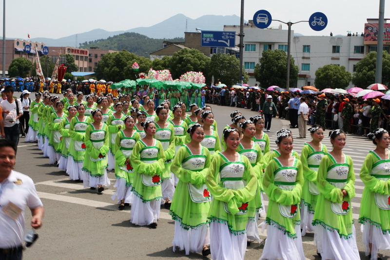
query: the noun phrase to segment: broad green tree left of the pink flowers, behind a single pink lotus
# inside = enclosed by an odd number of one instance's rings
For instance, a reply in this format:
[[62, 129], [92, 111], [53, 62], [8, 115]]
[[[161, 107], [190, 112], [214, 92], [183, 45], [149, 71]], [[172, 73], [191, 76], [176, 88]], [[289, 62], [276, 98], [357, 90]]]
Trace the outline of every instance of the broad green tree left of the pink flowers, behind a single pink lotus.
[[[137, 72], [132, 69], [134, 62], [139, 65], [139, 71]], [[125, 79], [135, 80], [138, 73], [147, 73], [151, 66], [151, 60], [123, 50], [103, 55], [95, 68], [95, 72], [99, 79], [118, 82]]]

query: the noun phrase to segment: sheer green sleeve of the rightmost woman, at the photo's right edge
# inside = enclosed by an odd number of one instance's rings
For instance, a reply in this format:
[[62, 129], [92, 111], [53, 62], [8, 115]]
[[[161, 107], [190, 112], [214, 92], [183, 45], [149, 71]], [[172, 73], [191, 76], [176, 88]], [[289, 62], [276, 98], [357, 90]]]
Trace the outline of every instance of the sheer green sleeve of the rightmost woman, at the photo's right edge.
[[364, 185], [372, 192], [379, 194], [390, 195], [390, 179], [379, 180], [370, 175], [372, 165], [377, 161], [374, 155], [369, 153], [363, 162], [362, 169], [360, 170], [360, 179]]

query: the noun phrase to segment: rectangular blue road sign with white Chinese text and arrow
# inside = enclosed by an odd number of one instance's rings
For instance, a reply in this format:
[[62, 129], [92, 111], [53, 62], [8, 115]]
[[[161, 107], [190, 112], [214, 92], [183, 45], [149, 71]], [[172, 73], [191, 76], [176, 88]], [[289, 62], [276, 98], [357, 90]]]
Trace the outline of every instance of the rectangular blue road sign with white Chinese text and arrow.
[[235, 46], [235, 32], [202, 31], [200, 46], [233, 48]]

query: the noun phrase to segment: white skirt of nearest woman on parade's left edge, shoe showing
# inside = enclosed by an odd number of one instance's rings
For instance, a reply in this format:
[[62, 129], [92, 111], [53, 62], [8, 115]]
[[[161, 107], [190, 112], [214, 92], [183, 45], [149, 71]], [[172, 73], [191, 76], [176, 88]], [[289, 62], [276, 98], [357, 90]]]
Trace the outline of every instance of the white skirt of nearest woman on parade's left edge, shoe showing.
[[186, 255], [190, 252], [202, 252], [204, 245], [210, 244], [210, 228], [208, 224], [198, 226], [194, 229], [185, 230], [180, 222], [175, 220], [175, 236], [172, 241], [174, 252], [176, 246], [179, 250], [185, 250]]

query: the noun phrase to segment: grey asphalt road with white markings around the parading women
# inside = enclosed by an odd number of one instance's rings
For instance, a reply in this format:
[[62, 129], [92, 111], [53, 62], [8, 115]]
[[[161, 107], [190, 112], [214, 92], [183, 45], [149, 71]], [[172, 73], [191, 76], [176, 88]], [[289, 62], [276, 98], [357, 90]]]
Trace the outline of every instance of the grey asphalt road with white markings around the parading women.
[[[230, 124], [230, 113], [233, 107], [212, 105], [215, 120], [218, 123], [218, 132], [221, 137], [223, 127]], [[255, 112], [239, 109], [248, 119]], [[288, 126], [288, 121], [273, 119], [271, 133], [271, 149], [274, 145], [274, 132]], [[293, 136], [297, 136], [297, 129]], [[350, 141], [351, 140], [351, 141]], [[306, 139], [295, 139], [294, 149], [300, 153]], [[310, 141], [308, 139], [307, 141]], [[329, 140], [324, 143], [330, 147]], [[15, 170], [27, 174], [36, 183], [44, 207], [45, 217], [43, 227], [38, 230], [39, 239], [24, 251], [24, 259], [28, 260], [79, 260], [79, 259], [202, 259], [201, 254], [191, 253], [185, 256], [184, 252], [173, 253], [172, 239], [174, 236], [174, 221], [168, 210], [161, 208], [160, 220], [157, 229], [139, 227], [130, 223], [130, 207], [123, 211], [117, 210], [117, 204], [111, 200], [115, 192], [115, 174], [109, 173], [111, 186], [102, 194], [97, 194], [89, 188], [84, 189], [82, 183], [68, 180], [64, 171], [48, 164], [48, 158], [43, 158], [42, 152], [36, 144], [25, 143], [20, 139], [18, 146], [17, 163]], [[358, 216], [360, 197], [364, 184], [358, 180], [358, 173], [369, 149], [373, 149], [369, 140], [348, 137], [346, 153], [354, 160], [357, 175], [357, 197], [352, 200], [354, 217]], [[355, 160], [356, 163], [355, 163]], [[359, 166], [360, 165], [360, 166]], [[266, 199], [267, 200], [267, 199]], [[267, 202], [265, 201], [267, 205]], [[27, 228], [31, 215], [26, 212]], [[263, 219], [262, 219], [263, 220]], [[259, 220], [259, 221], [262, 221]], [[360, 224], [355, 220], [356, 237], [362, 259], [364, 246], [361, 242]], [[266, 234], [261, 234], [265, 238]], [[316, 255], [313, 245], [313, 233], [308, 232], [302, 238], [307, 259], [320, 259]], [[261, 256], [263, 245], [252, 243], [247, 248], [246, 260], [257, 260]], [[390, 250], [380, 251], [386, 256]], [[204, 258], [206, 259], [206, 258]], [[382, 259], [389, 259], [382, 257]]]

